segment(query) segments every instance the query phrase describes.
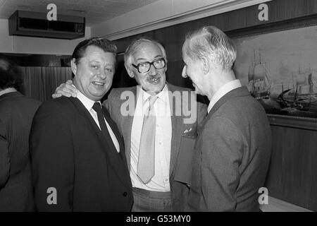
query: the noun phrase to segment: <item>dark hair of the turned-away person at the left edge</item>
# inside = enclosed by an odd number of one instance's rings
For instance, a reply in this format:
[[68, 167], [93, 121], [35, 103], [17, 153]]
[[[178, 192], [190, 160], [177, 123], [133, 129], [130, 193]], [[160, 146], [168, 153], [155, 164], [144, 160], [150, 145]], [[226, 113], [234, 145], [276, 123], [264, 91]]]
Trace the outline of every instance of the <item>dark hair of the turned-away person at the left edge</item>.
[[6, 88], [20, 90], [22, 83], [22, 74], [18, 65], [0, 56], [0, 88], [3, 90]]

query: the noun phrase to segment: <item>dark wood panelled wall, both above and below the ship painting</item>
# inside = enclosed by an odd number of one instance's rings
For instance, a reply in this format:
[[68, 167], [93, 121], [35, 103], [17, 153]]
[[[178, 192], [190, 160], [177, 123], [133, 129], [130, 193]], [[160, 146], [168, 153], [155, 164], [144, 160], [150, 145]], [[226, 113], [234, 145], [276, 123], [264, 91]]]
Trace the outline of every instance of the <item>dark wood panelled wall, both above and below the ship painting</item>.
[[[269, 25], [268, 28], [274, 28], [275, 25], [278, 28], [281, 21], [287, 20], [288, 23], [288, 20], [291, 22], [295, 18], [313, 16], [313, 22], [316, 22], [316, 0], [274, 0], [266, 4], [268, 4], [267, 22], [258, 20], [259, 10], [256, 5], [144, 32], [115, 42], [118, 51], [123, 53], [128, 43], [135, 37], [147, 36], [159, 40], [166, 47], [168, 57], [167, 81], [174, 85], [192, 87], [189, 79], [181, 77], [183, 66], [181, 49], [187, 32], [204, 25], [215, 25], [234, 38], [241, 30], [247, 29], [250, 33], [266, 25]], [[285, 23], [283, 24], [285, 26]], [[135, 85], [135, 81], [128, 77], [123, 67], [123, 55], [119, 57], [114, 87]], [[271, 129], [273, 150], [266, 179], [269, 196], [317, 211], [317, 131], [276, 125], [272, 125]]]

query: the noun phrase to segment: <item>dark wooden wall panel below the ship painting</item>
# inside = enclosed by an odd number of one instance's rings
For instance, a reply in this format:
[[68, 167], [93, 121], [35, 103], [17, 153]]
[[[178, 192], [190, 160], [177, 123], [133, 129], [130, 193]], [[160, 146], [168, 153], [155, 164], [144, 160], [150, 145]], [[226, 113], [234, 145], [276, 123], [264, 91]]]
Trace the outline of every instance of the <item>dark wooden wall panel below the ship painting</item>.
[[317, 211], [317, 131], [271, 126], [269, 196]]

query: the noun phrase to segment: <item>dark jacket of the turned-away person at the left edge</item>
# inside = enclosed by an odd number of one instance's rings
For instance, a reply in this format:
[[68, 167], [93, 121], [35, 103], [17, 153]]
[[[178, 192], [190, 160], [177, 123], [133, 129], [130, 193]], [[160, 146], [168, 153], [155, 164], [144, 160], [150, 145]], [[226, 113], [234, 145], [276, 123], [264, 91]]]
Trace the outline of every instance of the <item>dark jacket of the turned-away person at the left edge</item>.
[[0, 96], [0, 211], [34, 210], [28, 143], [40, 104], [18, 92]]

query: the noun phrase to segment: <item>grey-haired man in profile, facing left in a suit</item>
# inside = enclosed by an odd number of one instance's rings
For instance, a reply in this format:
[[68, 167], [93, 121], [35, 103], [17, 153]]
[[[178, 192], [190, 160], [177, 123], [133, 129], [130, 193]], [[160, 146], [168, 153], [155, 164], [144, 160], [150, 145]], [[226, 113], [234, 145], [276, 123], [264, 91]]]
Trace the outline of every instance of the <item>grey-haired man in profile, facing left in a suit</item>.
[[235, 78], [236, 50], [213, 26], [187, 35], [183, 77], [209, 97], [195, 145], [187, 210], [259, 211], [271, 155], [271, 130], [263, 107]]

